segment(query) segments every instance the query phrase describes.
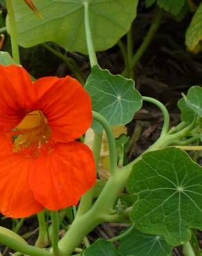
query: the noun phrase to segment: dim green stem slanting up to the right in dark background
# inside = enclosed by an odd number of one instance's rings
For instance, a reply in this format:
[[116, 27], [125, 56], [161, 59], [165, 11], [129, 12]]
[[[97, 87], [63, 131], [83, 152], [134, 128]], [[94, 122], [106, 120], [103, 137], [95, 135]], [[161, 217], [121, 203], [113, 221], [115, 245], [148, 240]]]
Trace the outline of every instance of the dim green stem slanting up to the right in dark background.
[[143, 56], [147, 47], [152, 42], [152, 39], [154, 38], [156, 31], [158, 30], [158, 28], [160, 26], [160, 21], [163, 16], [163, 9], [158, 8], [158, 6], [156, 9], [157, 10], [155, 12], [155, 17], [154, 17], [154, 20], [152, 21], [152, 25], [150, 26], [149, 31], [147, 32], [147, 35], [145, 36], [143, 43], [138, 48], [138, 51], [136, 51], [136, 53], [131, 61], [131, 68], [134, 68], [134, 66], [136, 66], [136, 64], [138, 63], [140, 58]]

